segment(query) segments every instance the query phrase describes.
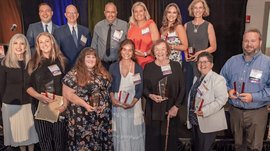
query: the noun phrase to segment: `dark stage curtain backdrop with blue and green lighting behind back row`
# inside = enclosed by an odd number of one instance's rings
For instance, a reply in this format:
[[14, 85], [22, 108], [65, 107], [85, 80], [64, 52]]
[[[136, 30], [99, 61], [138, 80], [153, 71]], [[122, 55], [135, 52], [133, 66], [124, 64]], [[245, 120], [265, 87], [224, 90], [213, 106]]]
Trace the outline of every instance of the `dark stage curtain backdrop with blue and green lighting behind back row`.
[[[59, 26], [66, 24], [66, 18], [63, 15], [66, 6], [75, 5], [80, 14], [78, 24], [89, 27], [90, 31], [93, 31], [95, 24], [105, 19], [103, 11], [107, 2], [113, 2], [116, 5], [117, 18], [128, 22], [132, 5], [137, 0], [22, 0], [20, 4], [22, 5], [25, 35], [29, 24], [40, 21], [38, 5], [42, 2], [51, 5], [54, 11], [52, 21]], [[161, 27], [164, 9], [172, 2], [180, 8], [183, 25], [193, 20], [187, 10], [192, 0], [141, 0], [141, 2], [146, 4], [151, 19], [156, 22], [158, 29]], [[204, 19], [213, 24], [217, 39], [217, 50], [212, 53], [214, 56], [213, 71], [220, 73], [222, 66], [229, 58], [243, 52], [242, 36], [245, 31], [247, 0], [207, 0], [207, 4], [210, 8], [210, 16]]]

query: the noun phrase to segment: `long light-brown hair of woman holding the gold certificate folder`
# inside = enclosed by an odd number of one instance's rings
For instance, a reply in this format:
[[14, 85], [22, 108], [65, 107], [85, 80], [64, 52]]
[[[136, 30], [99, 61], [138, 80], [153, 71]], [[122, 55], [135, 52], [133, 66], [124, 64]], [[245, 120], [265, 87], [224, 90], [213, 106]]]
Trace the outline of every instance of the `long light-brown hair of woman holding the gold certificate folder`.
[[38, 69], [42, 65], [43, 61], [46, 59], [42, 55], [42, 51], [39, 48], [38, 40], [39, 40], [40, 36], [48, 36], [50, 38], [50, 41], [52, 44], [52, 50], [50, 51], [49, 59], [50, 59], [51, 63], [55, 62], [55, 59], [58, 59], [61, 63], [61, 67], [63, 69], [63, 72], [65, 72], [65, 62], [67, 61], [66, 57], [60, 51], [60, 48], [59, 48], [56, 40], [52, 36], [52, 34], [50, 34], [48, 32], [42, 32], [36, 38], [35, 53], [34, 53], [33, 57], [29, 60], [29, 63], [28, 63], [28, 74], [31, 75], [33, 73], [33, 71]]

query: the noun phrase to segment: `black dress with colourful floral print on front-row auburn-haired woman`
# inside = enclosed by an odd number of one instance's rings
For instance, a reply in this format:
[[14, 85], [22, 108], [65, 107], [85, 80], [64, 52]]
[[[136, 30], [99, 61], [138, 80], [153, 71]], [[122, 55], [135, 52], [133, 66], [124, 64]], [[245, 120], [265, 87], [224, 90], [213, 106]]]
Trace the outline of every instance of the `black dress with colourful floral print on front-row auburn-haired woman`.
[[90, 103], [91, 93], [100, 87], [100, 110], [87, 112], [84, 107], [68, 102], [67, 150], [114, 150], [112, 134], [112, 106], [109, 97], [111, 82], [90, 71], [94, 81], [88, 81], [84, 88], [76, 82], [77, 71], [71, 70], [63, 78], [63, 84], [76, 90], [75, 94]]

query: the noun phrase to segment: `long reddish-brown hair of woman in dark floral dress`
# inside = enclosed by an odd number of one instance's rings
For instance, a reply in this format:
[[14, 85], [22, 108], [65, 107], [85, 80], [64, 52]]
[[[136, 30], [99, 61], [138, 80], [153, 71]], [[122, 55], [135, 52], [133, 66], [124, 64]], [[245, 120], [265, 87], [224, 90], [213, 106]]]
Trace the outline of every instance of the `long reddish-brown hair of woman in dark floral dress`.
[[81, 51], [79, 57], [76, 60], [75, 65], [73, 66], [73, 69], [77, 70], [77, 76], [75, 80], [77, 85], [83, 88], [86, 86], [89, 80], [94, 79], [94, 76], [90, 74], [90, 72], [87, 70], [86, 65], [85, 65], [85, 56], [87, 55], [94, 55], [96, 57], [96, 64], [93, 67], [93, 72], [95, 72], [99, 76], [103, 76], [109, 81], [112, 81], [112, 76], [101, 64], [101, 60], [97, 57], [97, 53], [95, 49], [86, 47]]

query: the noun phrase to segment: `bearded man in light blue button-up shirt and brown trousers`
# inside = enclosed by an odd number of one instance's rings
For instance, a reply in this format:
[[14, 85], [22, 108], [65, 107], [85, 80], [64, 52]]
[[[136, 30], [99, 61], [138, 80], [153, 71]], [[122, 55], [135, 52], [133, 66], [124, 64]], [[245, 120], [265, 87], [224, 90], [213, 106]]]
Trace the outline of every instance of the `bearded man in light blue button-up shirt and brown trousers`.
[[247, 29], [242, 42], [244, 53], [230, 58], [220, 72], [227, 80], [236, 150], [262, 150], [270, 104], [270, 57], [262, 54], [261, 45], [260, 31]]

